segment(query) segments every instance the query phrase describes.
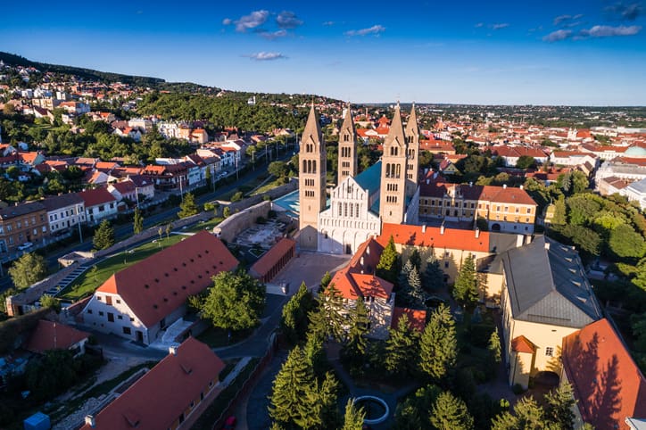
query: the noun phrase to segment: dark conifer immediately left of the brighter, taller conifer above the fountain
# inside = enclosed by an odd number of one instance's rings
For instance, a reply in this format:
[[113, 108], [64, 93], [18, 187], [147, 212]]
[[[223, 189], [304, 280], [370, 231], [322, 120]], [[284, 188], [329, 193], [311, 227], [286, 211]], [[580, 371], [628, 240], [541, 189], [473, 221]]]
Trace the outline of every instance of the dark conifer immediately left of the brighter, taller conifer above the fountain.
[[393, 376], [412, 375], [419, 353], [419, 334], [410, 326], [408, 316], [403, 314], [397, 326], [388, 329], [388, 334], [384, 358], [386, 371]]

